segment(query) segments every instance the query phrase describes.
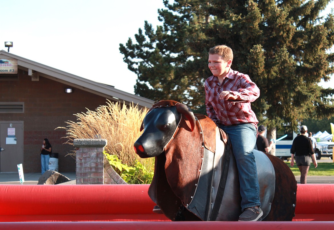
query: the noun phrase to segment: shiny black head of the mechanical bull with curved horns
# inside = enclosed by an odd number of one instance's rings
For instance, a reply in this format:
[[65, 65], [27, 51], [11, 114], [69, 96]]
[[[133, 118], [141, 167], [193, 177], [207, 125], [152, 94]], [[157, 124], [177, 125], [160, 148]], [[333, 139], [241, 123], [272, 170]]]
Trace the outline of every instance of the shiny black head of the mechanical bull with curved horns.
[[177, 102], [170, 106], [166, 102], [174, 101], [159, 102], [160, 106], [152, 107], [143, 120], [141, 130], [144, 129], [144, 132], [134, 143], [136, 153], [142, 158], [158, 156], [163, 152], [176, 130], [181, 114], [190, 120], [191, 130], [194, 128], [195, 116], [189, 107]]

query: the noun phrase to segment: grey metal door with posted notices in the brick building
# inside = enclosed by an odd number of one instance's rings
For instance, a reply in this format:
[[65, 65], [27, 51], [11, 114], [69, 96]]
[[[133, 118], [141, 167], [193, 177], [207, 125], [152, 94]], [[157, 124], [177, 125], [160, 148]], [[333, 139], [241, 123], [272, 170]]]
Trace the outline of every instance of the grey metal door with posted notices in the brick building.
[[[23, 163], [23, 121], [0, 121], [0, 172], [17, 172]], [[24, 165], [23, 165], [24, 167]]]

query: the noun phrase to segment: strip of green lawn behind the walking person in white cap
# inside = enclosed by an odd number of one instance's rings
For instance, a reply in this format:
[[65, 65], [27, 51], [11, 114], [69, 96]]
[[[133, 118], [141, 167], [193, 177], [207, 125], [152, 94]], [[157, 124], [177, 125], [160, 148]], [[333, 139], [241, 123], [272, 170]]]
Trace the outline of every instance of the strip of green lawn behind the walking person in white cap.
[[[290, 166], [290, 161], [286, 162], [286, 164], [290, 167], [291, 171], [295, 176], [300, 176], [300, 171], [298, 166], [295, 164], [293, 167]], [[318, 167], [314, 168], [314, 165], [311, 160], [311, 166], [308, 176], [334, 176], [334, 163], [333, 162], [321, 162], [318, 163]]]

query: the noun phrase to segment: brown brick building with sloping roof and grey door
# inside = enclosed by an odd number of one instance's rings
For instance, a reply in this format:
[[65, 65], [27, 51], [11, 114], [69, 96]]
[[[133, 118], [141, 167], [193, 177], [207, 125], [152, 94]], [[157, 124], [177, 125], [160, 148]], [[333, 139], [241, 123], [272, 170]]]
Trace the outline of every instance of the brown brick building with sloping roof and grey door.
[[[13, 67], [3, 69], [2, 66]], [[10, 63], [10, 65], [8, 64]], [[16, 64], [17, 63], [17, 64]], [[17, 69], [15, 69], [17, 65]], [[13, 69], [12, 69], [13, 68]], [[14, 74], [13, 74], [13, 71]], [[10, 71], [10, 72], [9, 72]], [[72, 93], [65, 93], [71, 89]], [[59, 172], [74, 172], [75, 159], [65, 155], [73, 150], [63, 144], [66, 121], [73, 114], [95, 110], [100, 105], [123, 101], [150, 108], [154, 102], [112, 86], [81, 78], [61, 70], [0, 51], [0, 172], [40, 172], [40, 146], [44, 138], [59, 154]], [[87, 108], [87, 109], [86, 109]]]

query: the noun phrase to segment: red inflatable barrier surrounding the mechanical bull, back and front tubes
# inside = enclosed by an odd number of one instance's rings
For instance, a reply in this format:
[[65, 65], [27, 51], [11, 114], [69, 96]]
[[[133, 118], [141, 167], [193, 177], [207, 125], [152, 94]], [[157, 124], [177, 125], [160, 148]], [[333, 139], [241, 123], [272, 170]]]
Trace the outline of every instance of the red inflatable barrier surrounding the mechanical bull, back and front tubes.
[[298, 184], [297, 204], [291, 204], [296, 205], [295, 222], [256, 223], [171, 222], [152, 212], [148, 187], [0, 185], [0, 229], [243, 229], [249, 224], [258, 229], [334, 229], [334, 184]]

